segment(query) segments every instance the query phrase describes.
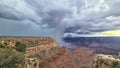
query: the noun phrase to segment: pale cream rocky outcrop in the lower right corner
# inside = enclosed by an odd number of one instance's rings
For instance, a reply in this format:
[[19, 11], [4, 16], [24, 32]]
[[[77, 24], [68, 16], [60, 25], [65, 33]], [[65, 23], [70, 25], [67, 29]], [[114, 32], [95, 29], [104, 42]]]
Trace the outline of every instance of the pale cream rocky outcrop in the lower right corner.
[[112, 55], [97, 54], [93, 68], [120, 68], [120, 59]]

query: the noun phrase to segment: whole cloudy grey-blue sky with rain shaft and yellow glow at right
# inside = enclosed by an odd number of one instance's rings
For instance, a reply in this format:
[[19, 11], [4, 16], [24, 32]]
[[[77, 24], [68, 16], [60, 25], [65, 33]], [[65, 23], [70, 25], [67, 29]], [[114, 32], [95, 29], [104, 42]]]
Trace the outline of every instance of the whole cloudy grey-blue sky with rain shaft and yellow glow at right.
[[119, 36], [120, 0], [0, 0], [0, 36]]

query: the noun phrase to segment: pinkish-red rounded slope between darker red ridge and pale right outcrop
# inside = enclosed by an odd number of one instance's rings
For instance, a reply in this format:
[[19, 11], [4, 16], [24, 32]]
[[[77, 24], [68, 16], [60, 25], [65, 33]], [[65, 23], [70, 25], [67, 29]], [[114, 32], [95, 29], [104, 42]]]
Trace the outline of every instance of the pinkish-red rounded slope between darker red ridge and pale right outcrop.
[[91, 68], [95, 53], [88, 48], [81, 47], [72, 50], [75, 60], [79, 61], [80, 68]]

